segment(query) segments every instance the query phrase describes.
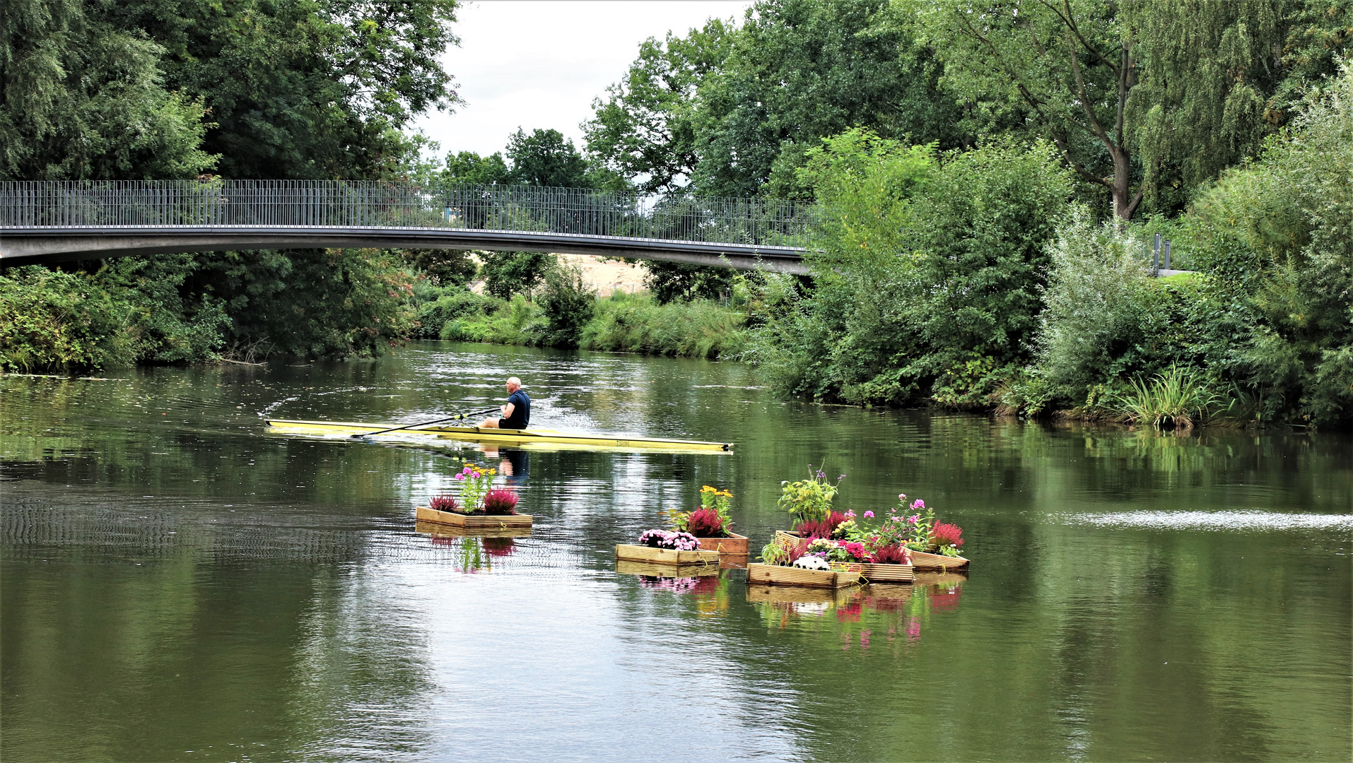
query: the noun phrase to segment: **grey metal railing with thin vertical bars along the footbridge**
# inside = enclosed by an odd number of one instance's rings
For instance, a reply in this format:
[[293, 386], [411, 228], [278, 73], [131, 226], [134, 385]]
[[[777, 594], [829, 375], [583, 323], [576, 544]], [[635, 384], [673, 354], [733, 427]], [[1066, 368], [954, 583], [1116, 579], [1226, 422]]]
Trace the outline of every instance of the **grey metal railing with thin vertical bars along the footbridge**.
[[451, 227], [806, 246], [812, 206], [536, 185], [329, 180], [0, 183], [0, 227]]

